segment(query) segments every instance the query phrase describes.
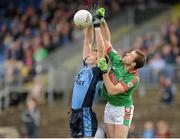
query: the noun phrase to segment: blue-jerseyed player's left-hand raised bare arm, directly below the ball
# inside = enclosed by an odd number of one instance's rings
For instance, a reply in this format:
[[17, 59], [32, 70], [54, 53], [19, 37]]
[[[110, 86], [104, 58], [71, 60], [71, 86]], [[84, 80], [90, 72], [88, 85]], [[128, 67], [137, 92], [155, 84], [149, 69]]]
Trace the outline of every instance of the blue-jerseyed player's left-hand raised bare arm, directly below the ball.
[[85, 29], [84, 32], [84, 46], [83, 46], [83, 60], [91, 53], [93, 43], [93, 27], [92, 25]]

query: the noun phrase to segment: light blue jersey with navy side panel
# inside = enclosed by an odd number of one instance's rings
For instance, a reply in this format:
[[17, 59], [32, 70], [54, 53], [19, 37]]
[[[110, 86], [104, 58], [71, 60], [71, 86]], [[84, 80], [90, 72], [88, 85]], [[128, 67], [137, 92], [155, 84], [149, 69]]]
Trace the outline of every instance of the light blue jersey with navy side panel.
[[72, 94], [72, 109], [91, 107], [95, 96], [97, 96], [102, 85], [102, 74], [100, 69], [89, 67], [84, 64], [77, 74]]

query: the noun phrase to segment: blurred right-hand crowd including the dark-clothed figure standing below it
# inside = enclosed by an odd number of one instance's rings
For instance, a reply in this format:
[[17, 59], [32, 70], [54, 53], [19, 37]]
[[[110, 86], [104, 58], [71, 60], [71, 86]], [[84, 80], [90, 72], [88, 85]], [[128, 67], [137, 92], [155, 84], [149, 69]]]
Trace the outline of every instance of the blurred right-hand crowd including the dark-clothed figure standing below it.
[[160, 31], [138, 36], [134, 48], [147, 55], [147, 64], [141, 70], [143, 80], [159, 82], [160, 101], [172, 104], [176, 93], [174, 83], [180, 81], [180, 18], [175, 22], [166, 18]]

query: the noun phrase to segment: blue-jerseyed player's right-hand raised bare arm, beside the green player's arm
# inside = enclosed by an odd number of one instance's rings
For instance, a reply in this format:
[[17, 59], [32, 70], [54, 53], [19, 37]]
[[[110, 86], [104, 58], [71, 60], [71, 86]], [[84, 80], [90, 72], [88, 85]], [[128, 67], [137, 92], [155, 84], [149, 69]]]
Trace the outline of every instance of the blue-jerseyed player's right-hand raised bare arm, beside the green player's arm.
[[105, 46], [100, 28], [95, 28], [95, 34], [99, 58], [102, 58], [105, 56]]

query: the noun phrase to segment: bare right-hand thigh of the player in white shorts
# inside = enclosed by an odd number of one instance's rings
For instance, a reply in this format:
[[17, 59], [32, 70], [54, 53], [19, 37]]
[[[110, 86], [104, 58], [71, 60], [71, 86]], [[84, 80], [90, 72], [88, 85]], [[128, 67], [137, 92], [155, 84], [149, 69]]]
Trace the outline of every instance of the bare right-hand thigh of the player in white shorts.
[[127, 138], [129, 127], [125, 125], [115, 125], [114, 137]]

